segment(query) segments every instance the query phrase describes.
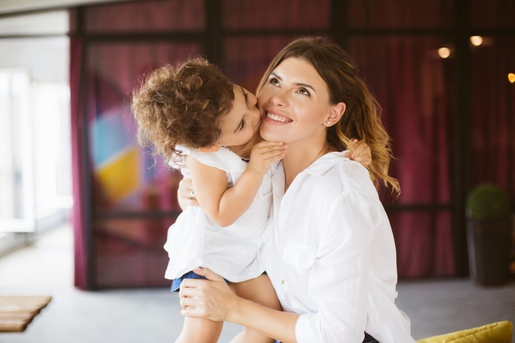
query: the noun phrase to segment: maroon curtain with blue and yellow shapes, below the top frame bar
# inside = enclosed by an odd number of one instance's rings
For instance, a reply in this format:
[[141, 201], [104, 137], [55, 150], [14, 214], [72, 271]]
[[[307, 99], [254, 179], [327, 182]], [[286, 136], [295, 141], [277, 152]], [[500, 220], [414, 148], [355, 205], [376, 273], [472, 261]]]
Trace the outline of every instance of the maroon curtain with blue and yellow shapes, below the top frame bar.
[[[132, 89], [153, 66], [199, 53], [194, 43], [92, 44], [88, 54], [90, 160], [95, 213], [124, 211], [131, 218], [93, 217], [94, 282], [97, 287], [164, 286], [163, 249], [175, 217], [148, 213], [180, 211], [179, 174], [148, 155], [135, 141], [129, 103]], [[121, 157], [121, 158], [120, 158]]]

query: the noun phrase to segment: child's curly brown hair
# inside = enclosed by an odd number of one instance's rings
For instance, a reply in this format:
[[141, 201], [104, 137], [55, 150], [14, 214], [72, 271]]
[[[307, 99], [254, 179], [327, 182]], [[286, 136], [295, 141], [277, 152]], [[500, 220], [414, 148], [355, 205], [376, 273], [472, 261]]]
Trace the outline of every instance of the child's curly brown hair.
[[220, 137], [220, 118], [232, 109], [234, 84], [208, 60], [198, 57], [176, 67], [164, 65], [132, 92], [138, 142], [153, 146], [164, 163], [188, 148], [207, 147]]

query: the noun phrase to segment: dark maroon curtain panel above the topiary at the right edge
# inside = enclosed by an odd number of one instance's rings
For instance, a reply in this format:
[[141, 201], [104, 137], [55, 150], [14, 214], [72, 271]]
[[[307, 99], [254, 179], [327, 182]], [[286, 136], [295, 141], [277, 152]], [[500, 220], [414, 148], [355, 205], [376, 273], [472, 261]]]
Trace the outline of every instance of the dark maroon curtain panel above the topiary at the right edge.
[[515, 39], [485, 37], [472, 48], [472, 180], [493, 182], [515, 202]]

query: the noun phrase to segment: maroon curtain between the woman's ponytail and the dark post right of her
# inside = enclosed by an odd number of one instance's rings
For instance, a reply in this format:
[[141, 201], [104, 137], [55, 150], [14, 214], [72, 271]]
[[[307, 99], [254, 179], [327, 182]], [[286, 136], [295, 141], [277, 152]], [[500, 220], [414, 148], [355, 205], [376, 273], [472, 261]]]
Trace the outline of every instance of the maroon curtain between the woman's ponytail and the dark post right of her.
[[[389, 212], [401, 278], [454, 274], [450, 212], [450, 134], [445, 67], [434, 37], [352, 38], [350, 53], [383, 108], [391, 135], [392, 175], [401, 185], [396, 205], [421, 210]], [[452, 63], [452, 61], [451, 61]], [[383, 192], [383, 203], [394, 199]], [[434, 211], [434, 205], [447, 210]], [[427, 207], [424, 210], [424, 206]]]

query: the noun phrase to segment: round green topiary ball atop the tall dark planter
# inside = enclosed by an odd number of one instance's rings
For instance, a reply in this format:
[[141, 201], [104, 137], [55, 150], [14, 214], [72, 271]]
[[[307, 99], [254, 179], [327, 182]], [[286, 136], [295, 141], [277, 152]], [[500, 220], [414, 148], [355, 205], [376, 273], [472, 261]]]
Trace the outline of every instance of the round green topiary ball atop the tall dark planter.
[[467, 215], [472, 219], [502, 219], [510, 216], [510, 200], [492, 183], [480, 183], [467, 197]]

